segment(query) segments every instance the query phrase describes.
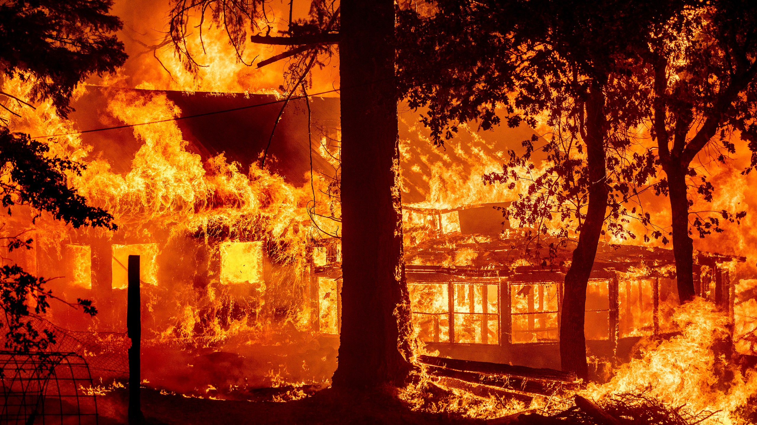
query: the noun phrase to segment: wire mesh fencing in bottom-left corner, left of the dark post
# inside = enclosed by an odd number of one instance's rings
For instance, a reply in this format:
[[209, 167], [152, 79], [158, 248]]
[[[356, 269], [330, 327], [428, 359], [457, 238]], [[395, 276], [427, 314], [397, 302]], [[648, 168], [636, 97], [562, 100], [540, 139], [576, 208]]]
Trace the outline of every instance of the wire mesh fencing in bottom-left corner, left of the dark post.
[[0, 423], [98, 423], [95, 386], [128, 377], [131, 340], [126, 333], [67, 330], [44, 318], [33, 326], [53, 333], [55, 343], [43, 352], [0, 351]]

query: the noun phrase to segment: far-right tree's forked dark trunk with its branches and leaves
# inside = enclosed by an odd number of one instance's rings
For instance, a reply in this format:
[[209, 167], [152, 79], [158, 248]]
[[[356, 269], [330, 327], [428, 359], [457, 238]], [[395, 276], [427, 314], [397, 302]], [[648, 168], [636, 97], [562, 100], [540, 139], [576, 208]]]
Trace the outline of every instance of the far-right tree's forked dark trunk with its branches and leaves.
[[[755, 11], [754, 2], [712, 3], [707, 8], [706, 20], [702, 21], [702, 30], [691, 35], [696, 41], [691, 39], [692, 43], [682, 57], [671, 56], [668, 43], [649, 45], [649, 59], [654, 71], [653, 129], [659, 160], [668, 179], [673, 253], [681, 303], [695, 296], [687, 198], [687, 178], [693, 177], [689, 170], [694, 158], [707, 144], [717, 141], [721, 141], [725, 152], [735, 154], [734, 145], [725, 136], [738, 130], [739, 137], [749, 141], [752, 151], [752, 163], [747, 172], [757, 165], [757, 128], [752, 124], [753, 99], [757, 93]], [[681, 39], [681, 35], [675, 31], [667, 37], [675, 40]], [[688, 138], [695, 129], [693, 137]], [[713, 140], [718, 133], [720, 140]], [[715, 149], [718, 150], [720, 148]], [[693, 181], [690, 183], [696, 185]], [[737, 213], [735, 218], [740, 219], [742, 214], [746, 212]], [[734, 221], [734, 216], [723, 211], [722, 219]], [[692, 225], [699, 228], [703, 236], [709, 230], [700, 227], [699, 223], [701, 221]], [[717, 227], [717, 222], [714, 223]]]

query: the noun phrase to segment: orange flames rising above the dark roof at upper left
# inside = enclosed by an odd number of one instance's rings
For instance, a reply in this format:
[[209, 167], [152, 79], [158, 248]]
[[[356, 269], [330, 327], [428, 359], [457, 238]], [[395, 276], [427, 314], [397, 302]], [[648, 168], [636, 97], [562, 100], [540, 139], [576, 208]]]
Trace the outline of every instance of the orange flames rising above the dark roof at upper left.
[[[295, 5], [295, 8], [298, 6]], [[164, 17], [169, 10], [168, 2], [122, 0], [115, 3], [113, 10], [125, 23], [118, 37], [124, 42], [126, 53], [129, 54], [123, 69], [123, 73], [129, 78], [119, 83], [122, 87], [183, 92], [282, 94], [277, 88], [282, 84], [282, 74], [288, 60], [280, 60], [262, 68], [258, 68], [256, 64], [282, 53], [285, 46], [248, 42], [240, 60], [234, 48], [229, 45], [226, 29], [210, 20], [210, 11], [201, 26], [201, 17], [195, 15], [189, 18], [188, 28], [191, 31], [186, 37], [185, 45], [199, 65], [195, 75], [186, 70], [182, 58], [174, 52], [173, 45], [165, 42], [167, 25]], [[288, 15], [288, 5], [268, 4], [266, 10], [268, 17], [275, 19], [271, 22], [257, 20], [255, 26], [259, 29], [251, 29], [248, 36], [268, 30], [274, 35], [279, 30], [286, 29], [287, 22], [278, 17]], [[313, 70], [310, 78], [313, 87], [309, 92], [326, 92], [333, 88], [332, 82], [338, 81], [338, 58], [327, 60], [326, 65]]]

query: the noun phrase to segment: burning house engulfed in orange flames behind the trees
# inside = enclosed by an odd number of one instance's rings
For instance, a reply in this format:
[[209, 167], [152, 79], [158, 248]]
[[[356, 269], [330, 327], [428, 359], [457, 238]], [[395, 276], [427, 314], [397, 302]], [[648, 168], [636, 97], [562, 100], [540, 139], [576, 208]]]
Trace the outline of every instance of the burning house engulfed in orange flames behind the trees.
[[[272, 99], [89, 87], [77, 102], [97, 108], [80, 108], [72, 118], [79, 126], [112, 126], [126, 117], [160, 119], [174, 110], [187, 116]], [[64, 276], [51, 282], [54, 290], [67, 299], [94, 299], [101, 311], [95, 321], [73, 311], [56, 311], [49, 319], [71, 330], [123, 330], [127, 257], [139, 255], [148, 340], [238, 352], [229, 347], [240, 341], [296, 346], [310, 334], [319, 338], [319, 357], [313, 360], [312, 350], [305, 350], [310, 358], [301, 361], [326, 379], [338, 348], [341, 244], [322, 229], [333, 222], [307, 209], [316, 191], [307, 188], [309, 142], [298, 131], [307, 126], [302, 104], [293, 102], [274, 133], [268, 153], [273, 173], [257, 166], [255, 153], [265, 150], [271, 131], [262, 123], [272, 122], [277, 108], [236, 110], [229, 113], [238, 117], [223, 115], [223, 121], [222, 114], [200, 113], [164, 129], [84, 135], [78, 148], [94, 172], [77, 184], [108, 206], [121, 227], [58, 229], [55, 237], [36, 237], [36, 250], [19, 261], [41, 275]], [[326, 180], [337, 169], [326, 141], [338, 138], [338, 99], [313, 99], [311, 110], [322, 132], [310, 143], [313, 181], [325, 205]], [[422, 147], [414, 131], [403, 126], [404, 149], [416, 150], [403, 164], [405, 271], [416, 338], [443, 357], [558, 368], [570, 251], [560, 251], [548, 266], [531, 264], [523, 231], [503, 219], [512, 192], [435, 175], [438, 163], [417, 162], [435, 153], [419, 151], [433, 148]], [[528, 132], [497, 138], [515, 144]], [[503, 147], [469, 134], [474, 149], [444, 153], [463, 167], [459, 175], [480, 163], [496, 168]], [[442, 184], [458, 187], [441, 194]], [[322, 228], [314, 228], [313, 220]], [[697, 260], [697, 292], [733, 317], [730, 273], [744, 258], [700, 253]], [[677, 305], [670, 250], [603, 244], [587, 292], [591, 355], [628, 358], [640, 337], [670, 330]]]

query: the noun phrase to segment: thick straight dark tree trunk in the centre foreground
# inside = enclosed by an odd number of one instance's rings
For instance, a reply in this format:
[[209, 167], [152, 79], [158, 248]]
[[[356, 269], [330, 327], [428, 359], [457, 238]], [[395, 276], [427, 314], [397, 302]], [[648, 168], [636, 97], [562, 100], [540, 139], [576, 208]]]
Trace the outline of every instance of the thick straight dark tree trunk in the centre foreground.
[[394, 2], [341, 5], [341, 343], [335, 386], [401, 383], [404, 281], [394, 82]]

